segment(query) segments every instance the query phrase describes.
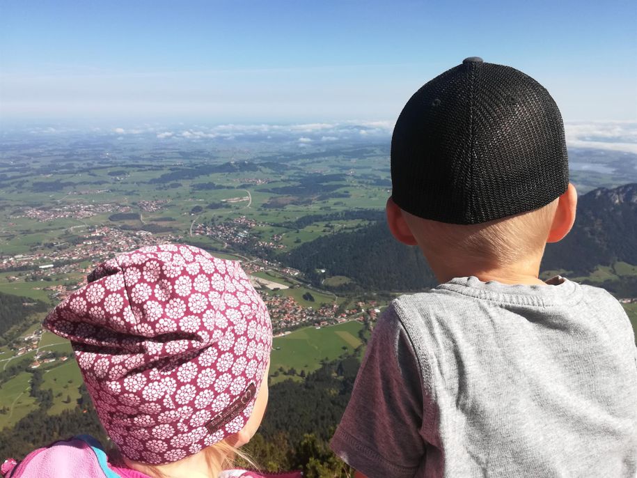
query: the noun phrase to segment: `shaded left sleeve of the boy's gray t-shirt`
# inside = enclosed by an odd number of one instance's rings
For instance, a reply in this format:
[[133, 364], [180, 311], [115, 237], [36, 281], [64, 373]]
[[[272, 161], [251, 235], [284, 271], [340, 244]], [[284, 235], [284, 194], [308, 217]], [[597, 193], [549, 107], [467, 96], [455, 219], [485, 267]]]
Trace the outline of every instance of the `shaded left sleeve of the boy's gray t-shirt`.
[[379, 318], [330, 446], [369, 478], [413, 477], [425, 457], [418, 360], [395, 310]]

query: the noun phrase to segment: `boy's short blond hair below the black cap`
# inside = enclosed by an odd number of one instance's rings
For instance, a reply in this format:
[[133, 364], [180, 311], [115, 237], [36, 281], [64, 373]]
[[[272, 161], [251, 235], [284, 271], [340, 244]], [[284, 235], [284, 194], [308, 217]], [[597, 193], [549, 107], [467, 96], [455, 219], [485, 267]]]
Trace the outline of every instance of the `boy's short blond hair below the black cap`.
[[403, 213], [423, 242], [425, 255], [451, 259], [456, 250], [464, 260], [503, 266], [542, 256], [557, 203], [556, 199], [542, 208], [480, 224], [447, 224]]

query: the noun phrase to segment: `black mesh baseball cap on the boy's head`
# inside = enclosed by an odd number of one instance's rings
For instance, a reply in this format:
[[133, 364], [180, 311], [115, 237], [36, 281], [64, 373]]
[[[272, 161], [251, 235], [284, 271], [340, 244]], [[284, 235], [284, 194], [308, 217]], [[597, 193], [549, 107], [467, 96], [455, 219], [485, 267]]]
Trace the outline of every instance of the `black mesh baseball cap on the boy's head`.
[[471, 56], [402, 109], [391, 180], [400, 208], [439, 222], [478, 224], [545, 206], [568, 187], [560, 110], [535, 79]]

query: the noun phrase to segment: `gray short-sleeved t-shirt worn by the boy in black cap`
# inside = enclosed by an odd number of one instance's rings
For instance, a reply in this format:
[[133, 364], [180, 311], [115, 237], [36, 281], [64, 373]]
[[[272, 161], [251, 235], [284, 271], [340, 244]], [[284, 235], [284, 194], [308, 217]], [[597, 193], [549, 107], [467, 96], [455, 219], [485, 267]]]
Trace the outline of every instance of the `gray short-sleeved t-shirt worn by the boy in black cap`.
[[462, 277], [379, 318], [331, 441], [370, 478], [637, 477], [622, 306], [562, 278]]

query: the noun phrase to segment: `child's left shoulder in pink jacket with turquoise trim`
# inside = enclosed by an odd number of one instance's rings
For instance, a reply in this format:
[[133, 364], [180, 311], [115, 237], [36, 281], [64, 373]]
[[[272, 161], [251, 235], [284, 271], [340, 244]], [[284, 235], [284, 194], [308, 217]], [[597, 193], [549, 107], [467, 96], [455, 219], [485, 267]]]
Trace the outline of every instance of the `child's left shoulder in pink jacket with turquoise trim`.
[[69, 478], [120, 478], [109, 468], [100, 442], [91, 435], [54, 442], [34, 450], [19, 463], [6, 463], [2, 469], [6, 478], [54, 478], [60, 476], [60, 470]]

